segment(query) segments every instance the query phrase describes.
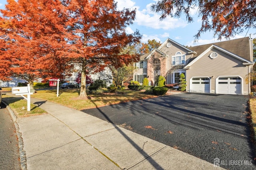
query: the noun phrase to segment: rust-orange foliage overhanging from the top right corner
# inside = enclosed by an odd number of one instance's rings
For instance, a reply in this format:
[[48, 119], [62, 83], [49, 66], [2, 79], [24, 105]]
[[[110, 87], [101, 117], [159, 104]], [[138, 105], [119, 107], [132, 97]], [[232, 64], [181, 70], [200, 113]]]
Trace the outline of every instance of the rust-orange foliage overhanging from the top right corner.
[[188, 22], [193, 22], [190, 12], [198, 8], [202, 25], [195, 38], [214, 30], [214, 35], [221, 39], [222, 36], [229, 38], [239, 34], [243, 29], [256, 28], [255, 6], [256, 0], [159, 0], [151, 6], [151, 10], [162, 12], [160, 20], [185, 14]]

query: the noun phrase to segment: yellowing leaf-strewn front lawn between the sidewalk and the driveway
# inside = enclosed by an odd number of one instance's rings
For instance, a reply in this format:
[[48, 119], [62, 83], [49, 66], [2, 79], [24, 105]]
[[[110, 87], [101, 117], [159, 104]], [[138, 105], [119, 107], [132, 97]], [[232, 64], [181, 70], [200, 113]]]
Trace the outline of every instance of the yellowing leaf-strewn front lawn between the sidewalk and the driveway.
[[60, 89], [59, 97], [56, 96], [57, 90], [40, 90], [36, 91], [33, 97], [59, 103], [77, 110], [157, 97], [155, 95], [146, 94], [143, 91], [130, 89], [118, 90], [117, 93], [108, 93], [106, 90], [103, 91], [104, 93], [98, 95], [87, 92], [88, 99], [78, 97], [80, 89]]

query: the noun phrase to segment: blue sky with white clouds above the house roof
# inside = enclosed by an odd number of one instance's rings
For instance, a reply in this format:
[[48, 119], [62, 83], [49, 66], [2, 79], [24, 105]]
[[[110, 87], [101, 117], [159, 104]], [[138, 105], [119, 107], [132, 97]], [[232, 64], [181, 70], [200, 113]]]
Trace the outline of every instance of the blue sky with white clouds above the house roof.
[[[182, 45], [195, 46], [207, 43], [218, 42], [217, 38], [213, 37], [212, 32], [206, 32], [201, 35], [201, 38], [197, 43], [194, 43], [194, 35], [198, 32], [201, 25], [200, 18], [197, 18], [198, 14], [196, 9], [192, 10], [191, 14], [194, 17], [194, 22], [188, 24], [185, 17], [181, 18], [170, 18], [167, 17], [165, 20], [160, 21], [160, 14], [151, 12], [150, 6], [157, 0], [116, 0], [118, 4], [118, 9], [123, 8], [136, 8], [136, 20], [134, 24], [128, 26], [127, 32], [132, 33], [136, 29], [140, 31], [143, 35], [142, 42], [147, 42], [148, 40], [157, 40], [164, 42], [167, 38], [170, 38]], [[0, 0], [0, 8], [4, 9], [4, 4], [6, 0]], [[236, 35], [234, 38], [243, 38], [252, 34], [252, 38], [256, 38], [255, 29], [244, 30], [243, 33]], [[222, 39], [225, 41], [226, 39]]]

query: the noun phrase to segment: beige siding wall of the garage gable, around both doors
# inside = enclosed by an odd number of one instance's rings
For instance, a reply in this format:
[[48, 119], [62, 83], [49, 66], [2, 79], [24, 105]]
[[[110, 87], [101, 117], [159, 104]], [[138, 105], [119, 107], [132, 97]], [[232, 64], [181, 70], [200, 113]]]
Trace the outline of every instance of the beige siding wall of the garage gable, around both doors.
[[[211, 59], [210, 53], [218, 53], [218, 57]], [[218, 49], [212, 49], [198, 61], [190, 66], [186, 71], [187, 90], [190, 89], [191, 77], [212, 77], [211, 79], [211, 93], [215, 93], [215, 81], [218, 76], [241, 76], [243, 78], [243, 92], [248, 92], [248, 83], [246, 82], [246, 75], [248, 74], [248, 67], [242, 65], [243, 61], [236, 59]]]

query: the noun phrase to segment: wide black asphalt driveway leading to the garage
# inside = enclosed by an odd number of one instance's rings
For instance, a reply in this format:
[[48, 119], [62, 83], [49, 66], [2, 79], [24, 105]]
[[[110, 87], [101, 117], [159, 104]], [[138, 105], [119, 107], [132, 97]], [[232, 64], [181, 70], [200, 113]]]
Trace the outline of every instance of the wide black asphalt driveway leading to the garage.
[[83, 111], [223, 168], [256, 169], [246, 96], [182, 93]]

